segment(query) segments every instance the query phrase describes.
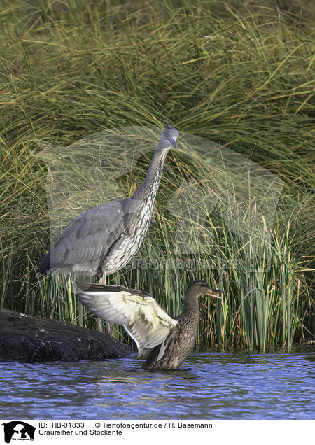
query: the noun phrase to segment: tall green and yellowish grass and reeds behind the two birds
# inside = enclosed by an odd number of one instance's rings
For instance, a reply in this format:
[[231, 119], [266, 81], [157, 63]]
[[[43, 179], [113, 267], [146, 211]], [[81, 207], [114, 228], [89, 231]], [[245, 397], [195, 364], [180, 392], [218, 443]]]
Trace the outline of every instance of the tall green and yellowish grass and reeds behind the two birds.
[[[69, 178], [66, 190], [72, 195], [64, 207], [60, 197], [59, 207], [52, 206], [46, 193], [54, 178], [54, 153], [70, 161], [68, 171], [75, 178], [87, 181], [87, 171], [66, 157], [69, 148], [64, 147], [101, 130], [162, 128], [170, 122], [181, 134], [202, 136], [243, 153], [276, 175], [281, 194], [272, 225], [264, 227], [258, 214], [259, 232], [251, 233], [248, 218], [255, 212], [244, 214], [241, 199], [233, 200], [237, 170], [229, 176], [230, 169], [209, 164], [216, 158], [209, 156], [207, 144], [191, 150], [180, 136], [180, 150], [167, 157], [141, 250], [110, 281], [151, 292], [174, 315], [181, 310], [189, 281], [204, 278], [223, 288], [222, 302], [202, 304], [200, 348], [218, 344], [264, 351], [281, 345], [289, 350], [293, 341], [314, 334], [311, 8], [302, 1], [290, 10], [271, 1], [241, 9], [229, 4], [2, 3], [1, 306], [94, 325], [94, 318], [78, 304], [72, 278], [35, 281], [34, 269], [50, 246], [50, 229], [54, 238], [72, 216], [104, 197], [130, 194], [144, 178], [151, 153], [146, 151], [137, 168], [125, 169], [119, 178], [115, 169], [99, 164], [97, 184], [83, 189], [86, 199], [77, 194], [82, 189], [70, 187], [76, 183]], [[34, 155], [38, 140], [59, 149], [48, 146], [45, 158]], [[153, 136], [148, 143], [154, 147]], [[109, 155], [115, 167], [115, 157]], [[188, 192], [194, 185], [200, 205], [191, 214], [180, 212], [176, 220], [169, 199], [176, 193], [185, 197], [186, 183]], [[248, 192], [244, 182], [241, 190]], [[224, 203], [212, 205], [209, 213], [207, 197], [218, 191]], [[262, 202], [267, 198], [269, 190], [260, 190]], [[254, 196], [246, 199], [254, 208]], [[188, 203], [191, 206], [192, 199]], [[197, 211], [202, 224], [195, 218]], [[233, 230], [227, 224], [232, 220]], [[183, 253], [179, 243], [187, 236], [192, 253]], [[169, 264], [180, 259], [181, 267], [141, 265], [144, 258], [161, 257]], [[120, 329], [116, 334], [124, 337]]]

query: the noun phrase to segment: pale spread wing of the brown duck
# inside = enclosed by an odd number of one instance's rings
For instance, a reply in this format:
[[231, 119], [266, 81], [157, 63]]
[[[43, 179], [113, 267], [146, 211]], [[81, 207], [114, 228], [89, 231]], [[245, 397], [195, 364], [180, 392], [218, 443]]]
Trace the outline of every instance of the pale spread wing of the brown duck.
[[78, 281], [77, 285], [84, 306], [109, 323], [123, 325], [137, 343], [139, 356], [162, 344], [178, 323], [141, 290]]

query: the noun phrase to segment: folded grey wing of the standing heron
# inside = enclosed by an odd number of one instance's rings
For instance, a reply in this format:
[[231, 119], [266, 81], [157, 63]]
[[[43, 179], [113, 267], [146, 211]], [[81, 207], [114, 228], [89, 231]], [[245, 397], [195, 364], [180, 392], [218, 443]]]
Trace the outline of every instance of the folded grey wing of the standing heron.
[[95, 271], [106, 252], [124, 232], [124, 216], [129, 201], [106, 202], [73, 219], [50, 250], [51, 268], [71, 268], [72, 264], [76, 264], [77, 271], [89, 268]]

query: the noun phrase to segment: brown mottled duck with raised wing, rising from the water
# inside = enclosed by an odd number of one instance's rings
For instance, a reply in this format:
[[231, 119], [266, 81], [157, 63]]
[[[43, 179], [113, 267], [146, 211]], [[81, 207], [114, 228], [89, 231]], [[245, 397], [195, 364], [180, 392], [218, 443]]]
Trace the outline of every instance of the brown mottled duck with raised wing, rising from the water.
[[110, 323], [123, 325], [136, 341], [144, 369], [177, 369], [195, 345], [200, 321], [198, 297], [214, 295], [205, 281], [194, 281], [186, 291], [183, 312], [169, 316], [146, 292], [123, 286], [79, 282], [81, 302], [92, 313]]

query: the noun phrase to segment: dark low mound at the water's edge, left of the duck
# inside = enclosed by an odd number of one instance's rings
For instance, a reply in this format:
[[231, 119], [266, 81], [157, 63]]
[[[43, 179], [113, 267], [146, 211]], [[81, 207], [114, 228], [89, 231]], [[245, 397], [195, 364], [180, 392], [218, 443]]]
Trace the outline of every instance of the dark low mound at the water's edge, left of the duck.
[[0, 362], [104, 360], [132, 354], [102, 332], [0, 308]]

